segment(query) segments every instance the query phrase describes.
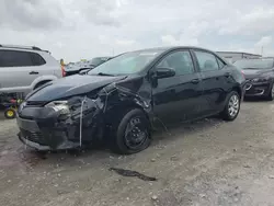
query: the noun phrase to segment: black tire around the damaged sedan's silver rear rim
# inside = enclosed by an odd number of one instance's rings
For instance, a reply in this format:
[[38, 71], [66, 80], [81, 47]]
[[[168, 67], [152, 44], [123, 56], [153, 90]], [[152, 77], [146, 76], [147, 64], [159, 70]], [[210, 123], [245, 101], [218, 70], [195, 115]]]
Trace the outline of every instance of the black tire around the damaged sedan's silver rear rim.
[[[229, 107], [230, 107], [230, 106], [229, 106], [229, 103], [230, 103], [230, 101], [232, 101], [231, 99], [235, 98], [235, 96], [237, 96], [238, 102], [239, 102], [239, 103], [238, 103], [238, 111], [237, 111], [236, 113], [232, 113], [232, 114], [231, 114], [231, 113], [229, 112]], [[222, 118], [224, 121], [229, 121], [229, 122], [235, 121], [235, 119], [237, 118], [239, 112], [240, 112], [240, 107], [241, 107], [241, 100], [240, 100], [239, 93], [236, 92], [236, 91], [231, 91], [231, 92], [227, 95], [226, 106], [225, 106], [224, 111], [220, 113], [221, 118]]]

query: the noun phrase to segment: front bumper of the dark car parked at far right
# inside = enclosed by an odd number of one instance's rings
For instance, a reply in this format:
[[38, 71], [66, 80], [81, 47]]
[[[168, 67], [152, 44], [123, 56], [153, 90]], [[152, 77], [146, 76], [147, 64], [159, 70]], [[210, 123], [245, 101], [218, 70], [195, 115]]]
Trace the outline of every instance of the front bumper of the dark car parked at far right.
[[267, 96], [271, 92], [271, 82], [252, 83], [247, 82], [244, 87], [244, 96]]

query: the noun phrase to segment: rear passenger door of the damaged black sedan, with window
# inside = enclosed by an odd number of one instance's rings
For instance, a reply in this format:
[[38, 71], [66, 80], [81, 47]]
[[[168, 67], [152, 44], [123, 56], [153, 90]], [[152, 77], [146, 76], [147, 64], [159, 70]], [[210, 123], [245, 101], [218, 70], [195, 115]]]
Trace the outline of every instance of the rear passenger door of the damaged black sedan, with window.
[[226, 83], [229, 78], [225, 69], [226, 64], [215, 54], [207, 50], [192, 50], [202, 76], [205, 100], [204, 115], [216, 113], [222, 110], [226, 100]]

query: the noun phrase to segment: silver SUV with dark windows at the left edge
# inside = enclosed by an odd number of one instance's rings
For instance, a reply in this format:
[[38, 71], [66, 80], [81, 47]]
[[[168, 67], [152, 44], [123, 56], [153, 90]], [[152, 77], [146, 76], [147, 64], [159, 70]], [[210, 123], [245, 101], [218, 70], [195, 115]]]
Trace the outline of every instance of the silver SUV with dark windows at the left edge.
[[28, 93], [62, 76], [61, 66], [47, 50], [0, 45], [0, 93]]

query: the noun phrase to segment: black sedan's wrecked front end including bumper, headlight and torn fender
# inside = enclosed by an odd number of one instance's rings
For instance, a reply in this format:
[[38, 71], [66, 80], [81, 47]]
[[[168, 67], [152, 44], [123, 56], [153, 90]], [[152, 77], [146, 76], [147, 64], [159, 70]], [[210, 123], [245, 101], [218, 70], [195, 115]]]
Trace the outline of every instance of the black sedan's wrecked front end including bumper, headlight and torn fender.
[[26, 100], [18, 114], [20, 140], [37, 150], [78, 148], [102, 140], [116, 121], [118, 107], [136, 105], [146, 113], [151, 111], [149, 93], [141, 98], [116, 83], [92, 93], [46, 104]]

